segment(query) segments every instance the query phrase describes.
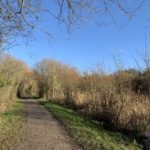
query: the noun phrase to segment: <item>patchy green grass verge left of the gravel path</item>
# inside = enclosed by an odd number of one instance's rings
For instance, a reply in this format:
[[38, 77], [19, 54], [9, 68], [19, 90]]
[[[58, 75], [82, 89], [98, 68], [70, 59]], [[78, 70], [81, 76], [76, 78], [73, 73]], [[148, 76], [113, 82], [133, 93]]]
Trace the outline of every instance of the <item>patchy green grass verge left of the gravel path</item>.
[[0, 113], [0, 150], [9, 150], [20, 141], [24, 105], [14, 101], [9, 111]]

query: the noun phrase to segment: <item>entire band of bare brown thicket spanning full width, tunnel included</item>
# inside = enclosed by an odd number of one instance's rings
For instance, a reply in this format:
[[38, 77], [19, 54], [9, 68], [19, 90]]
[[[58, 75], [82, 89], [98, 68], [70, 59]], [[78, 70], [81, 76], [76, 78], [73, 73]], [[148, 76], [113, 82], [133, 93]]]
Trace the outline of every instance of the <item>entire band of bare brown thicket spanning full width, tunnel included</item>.
[[44, 97], [118, 129], [144, 131], [150, 123], [150, 74], [134, 69], [80, 74], [69, 65], [45, 59], [33, 71], [10, 56], [0, 59], [0, 111], [16, 93]]

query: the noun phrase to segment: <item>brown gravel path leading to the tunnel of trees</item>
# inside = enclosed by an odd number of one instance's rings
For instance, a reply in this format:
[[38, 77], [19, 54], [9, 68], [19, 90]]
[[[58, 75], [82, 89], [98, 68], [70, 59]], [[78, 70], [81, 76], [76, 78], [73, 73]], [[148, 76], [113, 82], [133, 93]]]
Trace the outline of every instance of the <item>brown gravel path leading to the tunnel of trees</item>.
[[36, 100], [26, 99], [26, 123], [16, 150], [81, 150], [60, 123]]

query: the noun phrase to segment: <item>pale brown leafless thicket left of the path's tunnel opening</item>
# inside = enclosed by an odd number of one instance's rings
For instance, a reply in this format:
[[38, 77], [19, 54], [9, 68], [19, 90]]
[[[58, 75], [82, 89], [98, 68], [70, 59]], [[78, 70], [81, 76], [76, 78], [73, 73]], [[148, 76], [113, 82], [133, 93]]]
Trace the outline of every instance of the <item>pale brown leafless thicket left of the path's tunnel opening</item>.
[[17, 88], [27, 66], [8, 55], [0, 55], [0, 112], [15, 99]]

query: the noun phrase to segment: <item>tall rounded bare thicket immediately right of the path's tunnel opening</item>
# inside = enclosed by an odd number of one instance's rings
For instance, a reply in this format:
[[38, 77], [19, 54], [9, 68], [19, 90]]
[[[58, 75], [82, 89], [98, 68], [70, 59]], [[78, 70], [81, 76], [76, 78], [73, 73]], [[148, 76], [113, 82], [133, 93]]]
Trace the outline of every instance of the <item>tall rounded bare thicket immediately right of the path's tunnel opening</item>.
[[73, 67], [53, 60], [43, 60], [35, 67], [41, 95], [46, 99], [72, 103], [79, 74]]

